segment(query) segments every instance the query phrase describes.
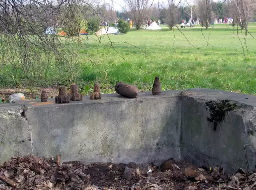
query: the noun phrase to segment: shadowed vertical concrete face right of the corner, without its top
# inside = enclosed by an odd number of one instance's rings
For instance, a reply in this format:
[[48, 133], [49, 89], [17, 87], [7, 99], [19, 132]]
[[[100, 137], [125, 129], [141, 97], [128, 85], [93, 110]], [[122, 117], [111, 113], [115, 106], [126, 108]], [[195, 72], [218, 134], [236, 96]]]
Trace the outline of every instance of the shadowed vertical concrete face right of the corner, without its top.
[[[182, 156], [199, 166], [216, 166], [230, 170], [246, 168], [244, 144], [246, 130], [239, 111], [226, 113], [226, 119], [217, 125], [207, 120], [210, 117], [206, 105], [192, 97], [182, 101]], [[190, 109], [193, 107], [193, 109]], [[188, 111], [190, 109], [190, 111]], [[255, 168], [251, 168], [255, 169]]]

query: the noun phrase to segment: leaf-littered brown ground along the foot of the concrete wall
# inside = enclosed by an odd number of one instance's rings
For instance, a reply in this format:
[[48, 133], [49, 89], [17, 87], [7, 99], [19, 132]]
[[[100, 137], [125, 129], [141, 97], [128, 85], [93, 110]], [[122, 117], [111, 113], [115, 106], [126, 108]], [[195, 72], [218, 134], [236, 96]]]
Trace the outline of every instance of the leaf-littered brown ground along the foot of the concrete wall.
[[11, 158], [0, 164], [1, 190], [254, 190], [256, 174], [239, 169], [209, 171], [193, 164], [166, 160], [159, 167], [80, 162], [60, 162], [35, 156]]

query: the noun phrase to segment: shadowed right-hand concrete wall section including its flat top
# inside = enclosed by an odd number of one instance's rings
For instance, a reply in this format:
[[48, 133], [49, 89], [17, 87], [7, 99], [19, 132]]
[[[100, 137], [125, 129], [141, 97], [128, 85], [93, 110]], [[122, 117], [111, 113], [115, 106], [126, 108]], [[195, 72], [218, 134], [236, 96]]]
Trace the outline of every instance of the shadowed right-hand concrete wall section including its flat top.
[[[198, 166], [220, 165], [226, 172], [235, 172], [238, 168], [255, 170], [256, 164], [256, 97], [214, 91], [191, 89], [192, 93], [182, 97], [182, 159]], [[234, 100], [238, 108], [226, 113], [225, 120], [213, 130], [209, 109], [205, 102], [209, 100]], [[193, 108], [193, 109], [191, 109]], [[256, 120], [254, 120], [256, 121]], [[246, 152], [245, 152], [246, 148]]]

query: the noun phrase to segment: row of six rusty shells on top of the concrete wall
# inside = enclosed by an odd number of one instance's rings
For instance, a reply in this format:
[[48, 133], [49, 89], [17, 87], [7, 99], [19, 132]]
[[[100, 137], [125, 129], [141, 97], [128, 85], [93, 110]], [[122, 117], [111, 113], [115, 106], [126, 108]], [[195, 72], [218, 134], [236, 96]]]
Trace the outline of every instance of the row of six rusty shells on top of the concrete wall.
[[[128, 97], [128, 98], [136, 98], [139, 94], [138, 88], [134, 85], [125, 84], [122, 82], [118, 82], [115, 86], [116, 93]], [[161, 89], [161, 83], [159, 80], [159, 77], [155, 77], [153, 88], [152, 88], [152, 94], [153, 95], [160, 95], [162, 92]], [[65, 87], [59, 87], [59, 95], [55, 97], [55, 103], [69, 103], [71, 101], [80, 101], [83, 97], [78, 91], [78, 85], [72, 84], [71, 85], [71, 94], [66, 94], [66, 88]], [[100, 93], [100, 85], [94, 84], [94, 91], [90, 95], [90, 99], [101, 99], [101, 93]], [[46, 91], [42, 91], [41, 93], [41, 101], [46, 102], [48, 100], [48, 96], [46, 94]]]

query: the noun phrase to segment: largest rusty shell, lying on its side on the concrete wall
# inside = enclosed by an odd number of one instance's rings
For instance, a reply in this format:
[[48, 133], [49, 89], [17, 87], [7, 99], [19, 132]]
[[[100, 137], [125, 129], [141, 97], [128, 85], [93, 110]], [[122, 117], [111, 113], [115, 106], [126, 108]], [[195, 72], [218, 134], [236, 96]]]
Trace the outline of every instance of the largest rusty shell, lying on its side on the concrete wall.
[[128, 97], [128, 98], [136, 98], [139, 94], [138, 88], [133, 85], [128, 85], [122, 82], [119, 82], [115, 86], [116, 93]]

